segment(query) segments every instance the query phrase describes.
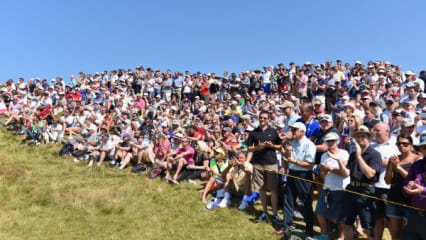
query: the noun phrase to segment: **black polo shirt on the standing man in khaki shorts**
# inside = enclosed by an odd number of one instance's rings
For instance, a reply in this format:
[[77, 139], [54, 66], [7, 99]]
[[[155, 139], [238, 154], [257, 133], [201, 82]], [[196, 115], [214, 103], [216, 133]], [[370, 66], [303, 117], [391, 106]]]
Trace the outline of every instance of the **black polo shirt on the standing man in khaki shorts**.
[[[274, 145], [281, 144], [281, 139], [275, 129], [268, 127], [262, 131], [260, 127], [250, 132], [247, 139], [247, 146], [257, 146], [261, 142], [272, 142]], [[259, 165], [277, 164], [277, 154], [273, 148], [264, 148], [260, 151], [253, 152], [252, 163]]]

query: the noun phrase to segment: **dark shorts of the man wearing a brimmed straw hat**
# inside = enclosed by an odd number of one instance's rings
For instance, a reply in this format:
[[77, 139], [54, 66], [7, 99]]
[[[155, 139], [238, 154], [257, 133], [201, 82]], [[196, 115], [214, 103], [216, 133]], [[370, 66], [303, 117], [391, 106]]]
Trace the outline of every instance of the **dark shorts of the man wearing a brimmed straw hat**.
[[[348, 185], [346, 189], [370, 196], [374, 196], [375, 193], [374, 187], [354, 187]], [[345, 192], [343, 197], [344, 201], [341, 202], [342, 206], [338, 221], [342, 224], [352, 226], [355, 222], [356, 216], [359, 215], [361, 226], [365, 229], [373, 230], [375, 224], [375, 200], [350, 192]]]

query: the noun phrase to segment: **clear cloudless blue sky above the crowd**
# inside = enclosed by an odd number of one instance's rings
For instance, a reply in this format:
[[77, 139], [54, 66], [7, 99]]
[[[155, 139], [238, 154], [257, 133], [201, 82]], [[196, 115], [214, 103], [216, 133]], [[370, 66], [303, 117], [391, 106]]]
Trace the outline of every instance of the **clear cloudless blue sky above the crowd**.
[[137, 65], [237, 72], [290, 61], [426, 68], [426, 1], [0, 2], [0, 82]]

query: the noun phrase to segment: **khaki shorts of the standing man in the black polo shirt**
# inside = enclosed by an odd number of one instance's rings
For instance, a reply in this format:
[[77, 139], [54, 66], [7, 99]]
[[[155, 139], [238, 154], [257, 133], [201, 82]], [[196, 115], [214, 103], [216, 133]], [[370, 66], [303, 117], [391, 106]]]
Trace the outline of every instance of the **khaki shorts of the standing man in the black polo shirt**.
[[260, 166], [253, 165], [253, 190], [259, 192], [260, 190], [278, 191], [279, 188], [279, 175], [275, 172], [265, 171], [256, 167], [263, 167], [272, 171], [278, 171], [278, 164]]

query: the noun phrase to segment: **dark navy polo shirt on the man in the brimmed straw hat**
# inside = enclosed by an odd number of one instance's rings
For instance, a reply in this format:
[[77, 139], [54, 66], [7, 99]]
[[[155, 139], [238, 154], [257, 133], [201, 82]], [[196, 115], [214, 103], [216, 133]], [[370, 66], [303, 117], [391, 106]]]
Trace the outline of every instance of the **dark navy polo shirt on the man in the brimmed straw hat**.
[[351, 181], [358, 181], [362, 183], [370, 183], [373, 184], [379, 180], [380, 168], [382, 166], [382, 156], [376, 150], [374, 150], [371, 146], [368, 146], [367, 150], [361, 155], [364, 161], [368, 166], [376, 170], [376, 175], [371, 179], [368, 179], [364, 173], [362, 173], [361, 168], [358, 164], [358, 160], [356, 158], [356, 153], [352, 153], [349, 156], [347, 168], [350, 170]]

